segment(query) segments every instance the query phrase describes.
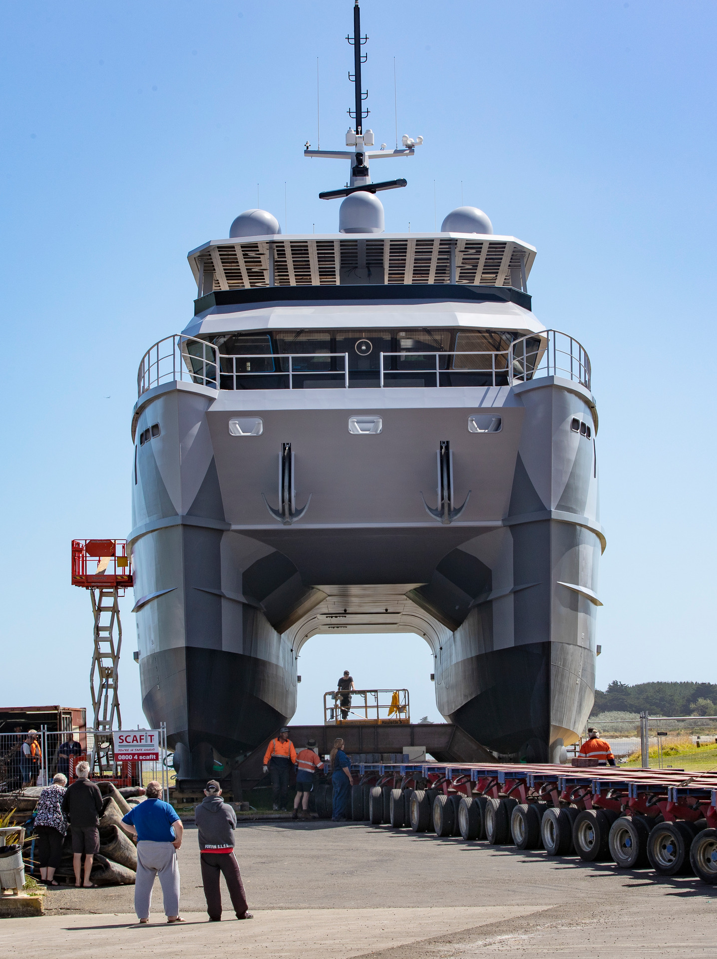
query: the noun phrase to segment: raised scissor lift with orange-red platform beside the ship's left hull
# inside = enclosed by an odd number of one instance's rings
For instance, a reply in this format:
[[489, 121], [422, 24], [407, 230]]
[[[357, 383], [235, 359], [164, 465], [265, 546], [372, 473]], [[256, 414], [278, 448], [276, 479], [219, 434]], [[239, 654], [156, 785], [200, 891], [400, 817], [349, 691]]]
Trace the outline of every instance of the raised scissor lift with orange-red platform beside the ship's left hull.
[[116, 774], [112, 732], [122, 729], [118, 670], [122, 648], [119, 597], [132, 585], [127, 540], [73, 540], [72, 585], [89, 590], [94, 619], [90, 667], [94, 746], [91, 775]]

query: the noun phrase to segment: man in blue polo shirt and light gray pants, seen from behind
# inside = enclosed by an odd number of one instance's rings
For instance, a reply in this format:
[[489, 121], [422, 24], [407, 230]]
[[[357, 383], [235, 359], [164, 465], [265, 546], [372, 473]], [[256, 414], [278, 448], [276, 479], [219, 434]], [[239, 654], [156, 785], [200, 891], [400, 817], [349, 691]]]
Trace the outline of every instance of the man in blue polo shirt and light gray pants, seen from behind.
[[159, 798], [161, 795], [160, 783], [148, 783], [145, 801], [130, 809], [122, 820], [127, 832], [137, 836], [134, 911], [141, 924], [150, 922], [151, 888], [155, 876], [162, 885], [167, 922], [184, 922], [179, 915], [179, 867], [176, 862], [184, 827], [173, 807]]

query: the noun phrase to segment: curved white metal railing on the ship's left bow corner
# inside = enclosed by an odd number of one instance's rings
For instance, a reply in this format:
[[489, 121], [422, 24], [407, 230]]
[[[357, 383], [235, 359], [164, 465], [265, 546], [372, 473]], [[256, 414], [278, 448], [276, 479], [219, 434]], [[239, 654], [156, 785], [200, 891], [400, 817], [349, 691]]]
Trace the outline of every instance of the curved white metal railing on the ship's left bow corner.
[[187, 381], [219, 388], [219, 350], [213, 343], [174, 334], [158, 340], [142, 357], [137, 370], [137, 396], [163, 383]]

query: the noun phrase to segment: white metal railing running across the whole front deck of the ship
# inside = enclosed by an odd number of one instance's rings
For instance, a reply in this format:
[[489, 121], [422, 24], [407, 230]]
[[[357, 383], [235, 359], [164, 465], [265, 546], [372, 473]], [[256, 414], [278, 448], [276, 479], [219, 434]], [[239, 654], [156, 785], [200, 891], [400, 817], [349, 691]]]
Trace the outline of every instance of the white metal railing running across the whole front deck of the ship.
[[590, 389], [590, 358], [557, 330], [531, 334], [507, 349], [380, 353], [378, 368], [351, 369], [348, 353], [223, 354], [203, 339], [160, 339], [142, 358], [137, 392], [185, 381], [217, 389], [513, 386], [556, 376]]

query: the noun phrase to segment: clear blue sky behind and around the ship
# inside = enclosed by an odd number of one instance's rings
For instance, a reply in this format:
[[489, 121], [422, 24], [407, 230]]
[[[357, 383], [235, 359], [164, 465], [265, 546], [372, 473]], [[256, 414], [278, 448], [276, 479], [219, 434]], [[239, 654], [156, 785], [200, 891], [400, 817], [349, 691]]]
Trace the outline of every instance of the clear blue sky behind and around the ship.
[[[317, 57], [321, 146], [343, 142], [351, 8], [3, 3], [2, 705], [88, 704], [70, 541], [127, 534], [137, 364], [192, 314], [187, 251], [226, 236], [257, 184], [284, 225], [286, 183], [289, 232], [335, 230], [317, 193], [344, 165], [302, 149]], [[382, 169], [408, 180], [385, 195], [387, 229], [432, 230], [434, 181], [440, 225], [462, 181], [498, 233], [537, 246], [535, 313], [590, 353], [608, 536], [598, 685], [716, 681], [717, 6], [364, 0], [362, 16], [377, 142], [394, 142], [394, 57], [399, 136], [426, 141]], [[143, 721], [131, 605], [126, 725]], [[315, 640], [300, 663], [297, 719], [319, 717], [346, 666], [409, 686], [414, 713], [438, 718], [418, 639]]]

